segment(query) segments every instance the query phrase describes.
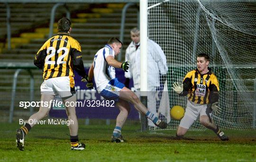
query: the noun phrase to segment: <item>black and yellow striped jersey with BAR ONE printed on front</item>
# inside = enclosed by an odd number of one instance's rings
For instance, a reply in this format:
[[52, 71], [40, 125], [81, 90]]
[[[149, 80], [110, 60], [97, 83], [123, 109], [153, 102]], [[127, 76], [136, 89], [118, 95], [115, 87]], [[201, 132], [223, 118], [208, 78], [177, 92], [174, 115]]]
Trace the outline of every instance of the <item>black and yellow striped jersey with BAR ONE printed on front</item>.
[[187, 73], [183, 79], [181, 96], [188, 95], [188, 99], [198, 104], [209, 104], [219, 100], [219, 82], [211, 72], [201, 75], [198, 69]]

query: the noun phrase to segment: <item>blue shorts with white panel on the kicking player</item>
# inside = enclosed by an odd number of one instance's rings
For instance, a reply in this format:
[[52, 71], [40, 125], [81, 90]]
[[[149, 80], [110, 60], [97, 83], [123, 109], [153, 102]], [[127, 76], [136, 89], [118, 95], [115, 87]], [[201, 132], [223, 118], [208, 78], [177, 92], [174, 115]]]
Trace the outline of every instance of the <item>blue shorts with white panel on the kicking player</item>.
[[114, 100], [115, 102], [119, 102], [119, 91], [125, 85], [118, 81], [117, 78], [110, 80], [108, 85], [101, 91], [101, 96], [106, 100]]

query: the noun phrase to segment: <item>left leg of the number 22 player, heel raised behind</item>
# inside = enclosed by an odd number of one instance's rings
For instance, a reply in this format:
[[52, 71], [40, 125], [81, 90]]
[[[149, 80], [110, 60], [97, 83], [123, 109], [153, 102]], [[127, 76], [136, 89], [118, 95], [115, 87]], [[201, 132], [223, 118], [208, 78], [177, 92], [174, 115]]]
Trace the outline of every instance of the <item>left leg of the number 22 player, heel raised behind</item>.
[[39, 111], [31, 115], [29, 119], [27, 119], [25, 126], [22, 126], [21, 128], [16, 130], [16, 145], [19, 150], [24, 150], [25, 136], [28, 134], [29, 130], [36, 124], [34, 123], [34, 121], [41, 120], [48, 115], [50, 108], [49, 106], [46, 107], [44, 103], [47, 102], [49, 105], [50, 101], [53, 99], [54, 95], [42, 94], [41, 102], [43, 102], [43, 104], [40, 105]]

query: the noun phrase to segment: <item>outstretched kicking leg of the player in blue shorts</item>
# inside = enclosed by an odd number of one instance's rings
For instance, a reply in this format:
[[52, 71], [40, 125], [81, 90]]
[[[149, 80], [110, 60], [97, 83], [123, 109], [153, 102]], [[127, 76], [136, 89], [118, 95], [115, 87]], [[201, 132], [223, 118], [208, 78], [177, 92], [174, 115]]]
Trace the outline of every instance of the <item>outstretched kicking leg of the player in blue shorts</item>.
[[125, 101], [131, 102], [137, 111], [146, 115], [146, 117], [151, 121], [153, 121], [153, 123], [157, 127], [162, 129], [167, 127], [167, 123], [165, 123], [165, 121], [158, 119], [158, 117], [154, 113], [148, 111], [147, 108], [140, 102], [137, 95], [131, 90], [129, 90], [128, 88], [123, 87], [122, 90], [120, 91], [119, 97]]

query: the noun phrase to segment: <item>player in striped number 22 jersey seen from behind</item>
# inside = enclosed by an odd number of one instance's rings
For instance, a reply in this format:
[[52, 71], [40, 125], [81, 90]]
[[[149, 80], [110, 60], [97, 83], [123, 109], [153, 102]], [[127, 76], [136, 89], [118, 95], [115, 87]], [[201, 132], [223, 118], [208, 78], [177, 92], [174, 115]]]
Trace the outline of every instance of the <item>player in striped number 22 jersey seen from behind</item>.
[[[24, 126], [16, 130], [16, 144], [24, 150], [25, 136], [38, 121], [45, 118], [51, 108], [55, 95], [60, 95], [64, 103], [75, 102], [74, 70], [87, 80], [82, 61], [81, 46], [71, 35], [71, 21], [61, 18], [57, 25], [58, 33], [48, 39], [37, 52], [34, 64], [43, 70], [44, 82], [41, 85], [41, 104], [39, 111], [33, 114]], [[65, 104], [66, 105], [66, 104]], [[70, 105], [70, 104], [67, 104]], [[72, 150], [83, 150], [85, 145], [78, 140], [78, 122], [75, 106], [66, 107], [70, 120], [70, 142]]]

